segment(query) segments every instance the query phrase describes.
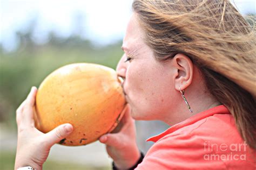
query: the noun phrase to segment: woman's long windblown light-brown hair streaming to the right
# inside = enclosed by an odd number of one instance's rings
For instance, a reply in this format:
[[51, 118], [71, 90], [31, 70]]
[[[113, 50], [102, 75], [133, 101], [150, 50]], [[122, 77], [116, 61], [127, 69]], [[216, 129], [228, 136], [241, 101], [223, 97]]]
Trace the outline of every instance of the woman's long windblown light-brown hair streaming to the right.
[[241, 137], [256, 148], [254, 25], [225, 0], [134, 0], [132, 8], [156, 58], [189, 56], [234, 116]]

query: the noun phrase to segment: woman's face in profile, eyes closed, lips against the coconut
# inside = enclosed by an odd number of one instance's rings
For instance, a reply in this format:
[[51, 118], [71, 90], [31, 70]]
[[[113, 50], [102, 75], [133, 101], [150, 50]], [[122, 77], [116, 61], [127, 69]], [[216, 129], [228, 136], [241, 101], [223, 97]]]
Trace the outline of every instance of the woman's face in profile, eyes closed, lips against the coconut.
[[[134, 119], [162, 120], [170, 114], [173, 93], [171, 62], [159, 62], [152, 49], [143, 40], [144, 32], [136, 14], [127, 25], [123, 40], [124, 55], [117, 66], [117, 73], [124, 78], [126, 101]], [[127, 61], [127, 59], [129, 61]]]

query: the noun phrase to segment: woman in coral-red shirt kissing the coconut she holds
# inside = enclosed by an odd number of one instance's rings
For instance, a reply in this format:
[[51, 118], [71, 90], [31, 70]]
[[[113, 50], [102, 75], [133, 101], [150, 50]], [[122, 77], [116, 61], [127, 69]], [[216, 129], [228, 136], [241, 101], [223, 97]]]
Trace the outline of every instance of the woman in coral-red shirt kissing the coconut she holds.
[[[135, 0], [117, 66], [129, 103], [105, 134], [114, 169], [255, 169], [255, 33], [228, 1]], [[42, 169], [71, 124], [35, 129], [36, 88], [17, 109], [15, 168]], [[133, 119], [171, 128], [136, 145]], [[29, 136], [29, 138], [28, 138]]]

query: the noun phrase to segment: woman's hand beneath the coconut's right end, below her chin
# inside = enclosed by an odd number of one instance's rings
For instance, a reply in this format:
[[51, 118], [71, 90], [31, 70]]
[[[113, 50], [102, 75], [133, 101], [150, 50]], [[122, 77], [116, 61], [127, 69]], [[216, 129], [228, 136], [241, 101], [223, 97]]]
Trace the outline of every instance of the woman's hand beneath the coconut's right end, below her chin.
[[129, 169], [139, 160], [140, 151], [136, 144], [136, 128], [129, 104], [123, 112], [124, 116], [117, 128], [101, 136], [99, 141], [106, 144], [106, 151], [118, 169]]

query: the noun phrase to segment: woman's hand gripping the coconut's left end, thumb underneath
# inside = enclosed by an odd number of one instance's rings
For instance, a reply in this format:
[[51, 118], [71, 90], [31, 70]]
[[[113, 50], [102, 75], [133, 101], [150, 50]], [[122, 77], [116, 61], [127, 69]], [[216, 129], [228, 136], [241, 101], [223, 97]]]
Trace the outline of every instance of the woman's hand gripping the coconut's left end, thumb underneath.
[[32, 87], [26, 100], [16, 111], [18, 126], [18, 142], [15, 159], [15, 169], [24, 166], [42, 169], [50, 148], [72, 131], [71, 124], [63, 124], [48, 133], [42, 133], [35, 128], [33, 107], [36, 100], [36, 87]]

